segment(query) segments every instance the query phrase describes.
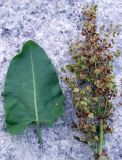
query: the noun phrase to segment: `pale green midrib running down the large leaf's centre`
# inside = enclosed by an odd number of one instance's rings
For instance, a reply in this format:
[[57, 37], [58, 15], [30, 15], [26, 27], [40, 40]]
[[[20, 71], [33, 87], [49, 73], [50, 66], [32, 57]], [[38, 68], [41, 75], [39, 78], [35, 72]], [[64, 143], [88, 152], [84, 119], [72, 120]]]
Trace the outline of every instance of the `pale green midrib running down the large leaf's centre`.
[[35, 108], [35, 115], [36, 115], [36, 123], [38, 125], [39, 124], [39, 115], [38, 115], [38, 107], [37, 107], [36, 82], [35, 82], [35, 72], [34, 72], [34, 64], [33, 64], [31, 47], [30, 47], [30, 58], [31, 58], [32, 79], [33, 79], [32, 81], [33, 81], [34, 108]]

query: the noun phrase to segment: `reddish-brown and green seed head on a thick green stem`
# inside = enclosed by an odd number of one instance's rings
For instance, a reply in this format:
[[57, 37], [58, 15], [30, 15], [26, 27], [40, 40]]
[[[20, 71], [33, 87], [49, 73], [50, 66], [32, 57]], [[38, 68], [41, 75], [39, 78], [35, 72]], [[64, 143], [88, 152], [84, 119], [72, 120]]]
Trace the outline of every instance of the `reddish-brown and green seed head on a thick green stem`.
[[76, 107], [78, 123], [77, 130], [84, 137], [77, 140], [89, 144], [95, 159], [108, 159], [103, 148], [105, 134], [112, 132], [108, 120], [112, 117], [112, 100], [116, 97], [116, 84], [113, 74], [113, 60], [119, 55], [114, 49], [117, 26], [110, 24], [109, 28], [101, 26], [97, 31], [97, 5], [83, 9], [84, 23], [81, 35], [84, 41], [71, 43], [69, 50], [72, 63], [63, 71], [70, 72], [64, 81], [71, 89], [72, 99]]

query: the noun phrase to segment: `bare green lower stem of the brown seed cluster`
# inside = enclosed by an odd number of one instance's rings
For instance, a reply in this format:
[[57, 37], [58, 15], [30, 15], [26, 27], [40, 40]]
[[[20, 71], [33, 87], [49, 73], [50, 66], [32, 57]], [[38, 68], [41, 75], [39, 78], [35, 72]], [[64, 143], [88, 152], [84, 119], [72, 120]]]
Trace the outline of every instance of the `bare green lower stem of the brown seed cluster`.
[[102, 160], [102, 151], [103, 151], [103, 120], [101, 119], [99, 122], [99, 144], [98, 144], [98, 155], [99, 159]]

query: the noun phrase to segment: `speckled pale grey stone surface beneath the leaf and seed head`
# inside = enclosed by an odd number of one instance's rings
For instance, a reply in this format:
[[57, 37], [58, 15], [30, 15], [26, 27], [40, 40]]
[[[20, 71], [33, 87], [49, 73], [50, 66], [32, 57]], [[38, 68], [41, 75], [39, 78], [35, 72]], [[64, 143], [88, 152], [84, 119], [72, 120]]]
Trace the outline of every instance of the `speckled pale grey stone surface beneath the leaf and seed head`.
[[[0, 0], [0, 94], [11, 59], [21, 49], [23, 42], [32, 39], [44, 48], [57, 68], [70, 61], [68, 42], [79, 38], [82, 29], [82, 7], [92, 0]], [[122, 25], [122, 0], [95, 0], [98, 3], [98, 26]], [[122, 50], [122, 30], [116, 46]], [[115, 78], [121, 92], [122, 57], [115, 60]], [[71, 129], [76, 119], [71, 95], [61, 81], [65, 94], [65, 114], [52, 128], [42, 127], [43, 144], [33, 126], [22, 135], [10, 136], [6, 132], [5, 113], [0, 96], [0, 160], [94, 160], [88, 145], [76, 141], [79, 133]], [[122, 160], [122, 108], [115, 101], [114, 133], [106, 137], [106, 149], [111, 160]]]

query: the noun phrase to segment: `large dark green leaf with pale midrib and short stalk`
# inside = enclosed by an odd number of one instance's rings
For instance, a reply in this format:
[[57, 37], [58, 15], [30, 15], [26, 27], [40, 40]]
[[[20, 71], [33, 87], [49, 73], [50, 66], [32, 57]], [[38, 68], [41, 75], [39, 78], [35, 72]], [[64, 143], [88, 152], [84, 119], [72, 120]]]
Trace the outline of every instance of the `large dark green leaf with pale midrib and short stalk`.
[[35, 42], [24, 44], [10, 63], [4, 86], [6, 126], [11, 134], [20, 134], [35, 123], [52, 126], [63, 114], [64, 97], [56, 70], [45, 51]]

